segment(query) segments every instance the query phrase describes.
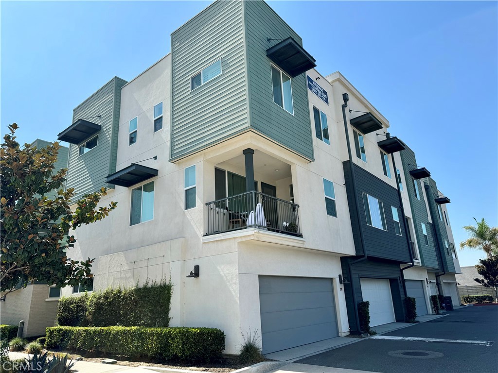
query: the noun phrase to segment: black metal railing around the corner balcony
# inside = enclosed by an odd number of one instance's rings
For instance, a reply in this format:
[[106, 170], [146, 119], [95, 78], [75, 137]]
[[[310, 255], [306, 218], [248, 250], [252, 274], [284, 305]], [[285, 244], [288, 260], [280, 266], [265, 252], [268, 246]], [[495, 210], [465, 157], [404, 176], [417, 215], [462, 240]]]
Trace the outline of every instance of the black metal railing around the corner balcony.
[[206, 235], [256, 227], [302, 237], [299, 229], [299, 205], [257, 191], [206, 203]]

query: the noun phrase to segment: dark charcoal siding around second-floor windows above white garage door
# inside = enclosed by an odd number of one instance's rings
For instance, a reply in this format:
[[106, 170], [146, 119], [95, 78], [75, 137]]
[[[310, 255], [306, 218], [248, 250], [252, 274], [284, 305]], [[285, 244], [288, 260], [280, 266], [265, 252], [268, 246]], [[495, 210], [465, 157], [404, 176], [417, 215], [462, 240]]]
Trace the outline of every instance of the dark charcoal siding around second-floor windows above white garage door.
[[[343, 168], [345, 170], [346, 186], [351, 185], [351, 176], [348, 172], [349, 161], [343, 163]], [[401, 225], [402, 236], [397, 235], [394, 230], [394, 220], [392, 217], [391, 206], [396, 207], [398, 209], [399, 216], [401, 216], [401, 206], [399, 204], [397, 190], [357, 165], [354, 165], [354, 170], [357, 187], [356, 197], [359, 201], [359, 213], [363, 227], [367, 255], [369, 257], [398, 261], [400, 263], [410, 262], [408, 244], [406, 242], [406, 237], [404, 236], [404, 219], [400, 219], [399, 222]], [[347, 192], [353, 192], [352, 188], [350, 187], [347, 189]], [[365, 206], [363, 203], [363, 193], [370, 194], [382, 201], [387, 231], [367, 224]], [[351, 209], [354, 209], [354, 204], [350, 204], [350, 210]], [[358, 229], [358, 227], [354, 227], [357, 224], [356, 220], [352, 220], [353, 232], [356, 232]]]

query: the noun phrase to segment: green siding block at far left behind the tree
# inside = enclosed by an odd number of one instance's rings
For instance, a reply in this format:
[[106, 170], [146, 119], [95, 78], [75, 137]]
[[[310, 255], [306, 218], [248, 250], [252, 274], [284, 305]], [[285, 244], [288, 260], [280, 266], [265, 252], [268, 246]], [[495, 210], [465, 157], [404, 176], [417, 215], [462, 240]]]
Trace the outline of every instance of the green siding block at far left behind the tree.
[[89, 152], [79, 156], [79, 145], [71, 144], [69, 147], [66, 188], [75, 189], [73, 201], [101, 187], [113, 187], [106, 183], [106, 177], [116, 169], [121, 98], [121, 94], [118, 96], [116, 93], [121, 91], [124, 84], [126, 82], [123, 79], [115, 77], [74, 109], [73, 123], [80, 118], [101, 115], [100, 119], [88, 120], [100, 124], [102, 129], [98, 132], [98, 145]]

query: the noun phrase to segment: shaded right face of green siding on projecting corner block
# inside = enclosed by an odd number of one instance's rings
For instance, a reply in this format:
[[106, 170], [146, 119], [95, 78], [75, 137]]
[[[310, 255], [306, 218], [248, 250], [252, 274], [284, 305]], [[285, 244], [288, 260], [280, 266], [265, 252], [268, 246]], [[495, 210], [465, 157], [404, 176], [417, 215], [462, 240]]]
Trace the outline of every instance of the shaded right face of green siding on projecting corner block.
[[264, 1], [244, 1], [247, 64], [249, 73], [250, 125], [275, 142], [313, 160], [306, 74], [292, 78], [294, 115], [273, 102], [271, 61], [266, 49], [280, 40], [302, 40]]

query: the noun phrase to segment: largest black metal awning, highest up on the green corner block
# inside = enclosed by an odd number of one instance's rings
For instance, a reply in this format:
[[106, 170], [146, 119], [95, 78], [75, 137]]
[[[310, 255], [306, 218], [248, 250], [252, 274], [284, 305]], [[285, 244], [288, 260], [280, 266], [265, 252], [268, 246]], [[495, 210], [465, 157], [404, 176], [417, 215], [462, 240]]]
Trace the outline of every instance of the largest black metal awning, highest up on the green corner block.
[[291, 37], [268, 48], [266, 56], [292, 78], [316, 67], [316, 60]]

